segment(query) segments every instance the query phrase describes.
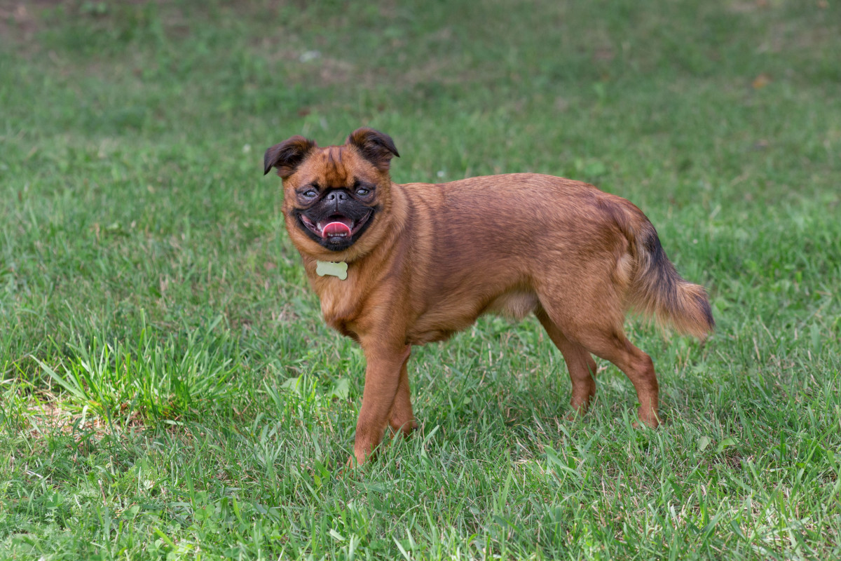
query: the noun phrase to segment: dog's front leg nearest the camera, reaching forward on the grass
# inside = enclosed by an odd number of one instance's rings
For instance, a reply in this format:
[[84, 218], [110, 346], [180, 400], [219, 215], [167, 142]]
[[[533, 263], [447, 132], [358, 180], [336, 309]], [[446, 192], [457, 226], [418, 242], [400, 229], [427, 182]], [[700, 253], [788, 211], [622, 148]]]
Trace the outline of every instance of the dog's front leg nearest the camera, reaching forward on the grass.
[[383, 440], [383, 431], [389, 424], [389, 414], [400, 383], [400, 370], [411, 352], [409, 345], [389, 346], [382, 341], [366, 345], [366, 342], [362, 341], [362, 350], [368, 366], [365, 369], [357, 437], [353, 444], [355, 458], [351, 458], [351, 462], [356, 459], [358, 465], [365, 463]]

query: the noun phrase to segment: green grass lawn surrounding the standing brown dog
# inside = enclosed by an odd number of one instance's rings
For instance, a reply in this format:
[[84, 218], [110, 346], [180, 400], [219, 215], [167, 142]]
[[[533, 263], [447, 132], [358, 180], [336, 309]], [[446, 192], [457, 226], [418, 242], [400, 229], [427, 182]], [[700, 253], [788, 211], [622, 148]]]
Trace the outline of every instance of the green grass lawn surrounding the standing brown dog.
[[[0, 3], [0, 558], [841, 556], [836, 2]], [[343, 471], [364, 360], [262, 152], [370, 125], [398, 182], [631, 199], [710, 290], [629, 322], [579, 421], [535, 320], [410, 363], [421, 429]]]

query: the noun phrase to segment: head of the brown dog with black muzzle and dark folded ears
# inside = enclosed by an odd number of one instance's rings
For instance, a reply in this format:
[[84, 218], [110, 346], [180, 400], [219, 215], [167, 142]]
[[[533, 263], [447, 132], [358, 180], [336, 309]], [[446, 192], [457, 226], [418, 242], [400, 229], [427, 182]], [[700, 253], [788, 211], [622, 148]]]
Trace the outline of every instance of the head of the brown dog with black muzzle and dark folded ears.
[[265, 172], [283, 177], [283, 214], [300, 251], [345, 251], [376, 227], [390, 203], [393, 156], [394, 141], [373, 129], [354, 131], [343, 146], [293, 136], [266, 151]]

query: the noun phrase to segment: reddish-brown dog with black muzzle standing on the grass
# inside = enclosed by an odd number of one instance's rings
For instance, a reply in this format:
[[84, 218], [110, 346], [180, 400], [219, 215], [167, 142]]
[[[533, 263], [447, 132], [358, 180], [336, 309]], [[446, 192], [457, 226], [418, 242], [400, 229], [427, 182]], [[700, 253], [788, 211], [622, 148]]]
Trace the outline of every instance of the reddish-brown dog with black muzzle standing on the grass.
[[592, 353], [627, 374], [639, 420], [657, 426], [657, 377], [623, 333], [627, 311], [701, 340], [713, 320], [704, 288], [680, 278], [643, 212], [537, 173], [399, 185], [392, 156], [389, 135], [359, 129], [326, 148], [293, 136], [264, 161], [283, 177], [286, 230], [325, 320], [365, 353], [357, 463], [386, 426], [416, 426], [411, 346], [447, 339], [488, 312], [537, 315], [567, 363], [575, 412], [595, 394]]

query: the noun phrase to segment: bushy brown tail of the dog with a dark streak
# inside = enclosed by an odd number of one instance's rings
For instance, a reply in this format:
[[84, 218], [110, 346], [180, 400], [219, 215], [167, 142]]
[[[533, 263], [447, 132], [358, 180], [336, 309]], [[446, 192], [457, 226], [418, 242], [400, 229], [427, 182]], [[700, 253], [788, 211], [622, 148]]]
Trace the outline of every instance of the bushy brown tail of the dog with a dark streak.
[[622, 230], [626, 230], [636, 257], [627, 303], [661, 327], [672, 325], [680, 333], [704, 341], [715, 327], [706, 290], [680, 277], [660, 245], [657, 230], [641, 210], [633, 209], [636, 212], [632, 214], [639, 213], [630, 220], [635, 224], [621, 225], [626, 226]]

